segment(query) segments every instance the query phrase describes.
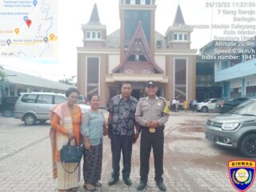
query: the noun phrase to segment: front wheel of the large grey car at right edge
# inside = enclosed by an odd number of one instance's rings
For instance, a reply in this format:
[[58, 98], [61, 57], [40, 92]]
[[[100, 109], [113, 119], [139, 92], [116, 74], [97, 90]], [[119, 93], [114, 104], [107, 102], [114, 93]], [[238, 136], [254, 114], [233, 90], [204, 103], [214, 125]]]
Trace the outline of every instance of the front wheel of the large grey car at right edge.
[[256, 157], [256, 134], [247, 134], [242, 139], [240, 151], [247, 157]]

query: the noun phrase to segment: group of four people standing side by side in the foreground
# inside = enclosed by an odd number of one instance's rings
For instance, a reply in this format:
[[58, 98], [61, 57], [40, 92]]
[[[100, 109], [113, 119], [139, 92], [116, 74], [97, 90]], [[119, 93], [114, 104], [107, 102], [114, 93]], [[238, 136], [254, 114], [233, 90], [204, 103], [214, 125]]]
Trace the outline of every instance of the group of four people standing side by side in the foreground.
[[[120, 158], [122, 153], [122, 180], [127, 186], [132, 185], [130, 179], [132, 146], [141, 133], [140, 145], [140, 182], [137, 189], [143, 190], [148, 181], [150, 150], [154, 152], [154, 180], [158, 188], [166, 191], [163, 174], [164, 124], [169, 118], [169, 108], [165, 98], [156, 95], [158, 86], [155, 82], [147, 82], [146, 98], [139, 101], [131, 96], [132, 84], [122, 82], [121, 94], [110, 99], [107, 122], [98, 109], [99, 97], [90, 97], [90, 110], [82, 114], [77, 105], [79, 91], [70, 88], [66, 91], [67, 102], [50, 109], [50, 138], [53, 151], [53, 173], [58, 178], [58, 191], [76, 191], [80, 181], [78, 163], [60, 162], [59, 150], [72, 139], [74, 145], [85, 144], [83, 178], [86, 190], [94, 191], [102, 186], [99, 182], [102, 173], [102, 140], [108, 135], [112, 152], [112, 174], [109, 186], [119, 180]], [[77, 168], [77, 169], [75, 169]]]

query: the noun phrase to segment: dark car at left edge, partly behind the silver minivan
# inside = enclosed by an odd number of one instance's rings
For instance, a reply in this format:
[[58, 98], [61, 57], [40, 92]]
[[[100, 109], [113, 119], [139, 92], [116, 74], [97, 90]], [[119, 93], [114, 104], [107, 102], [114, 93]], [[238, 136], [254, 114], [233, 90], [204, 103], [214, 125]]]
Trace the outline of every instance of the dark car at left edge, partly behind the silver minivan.
[[2, 98], [2, 101], [0, 102], [0, 112], [3, 116], [11, 117], [14, 115], [14, 105], [17, 99], [18, 96]]

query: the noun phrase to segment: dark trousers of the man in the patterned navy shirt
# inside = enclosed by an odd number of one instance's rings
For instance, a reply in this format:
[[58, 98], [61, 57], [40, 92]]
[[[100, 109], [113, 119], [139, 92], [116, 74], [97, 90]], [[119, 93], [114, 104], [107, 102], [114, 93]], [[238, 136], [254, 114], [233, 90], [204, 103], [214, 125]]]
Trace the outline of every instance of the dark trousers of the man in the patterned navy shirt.
[[111, 134], [111, 151], [112, 151], [112, 178], [119, 178], [119, 162], [122, 150], [122, 178], [130, 177], [131, 154], [133, 146], [133, 136]]

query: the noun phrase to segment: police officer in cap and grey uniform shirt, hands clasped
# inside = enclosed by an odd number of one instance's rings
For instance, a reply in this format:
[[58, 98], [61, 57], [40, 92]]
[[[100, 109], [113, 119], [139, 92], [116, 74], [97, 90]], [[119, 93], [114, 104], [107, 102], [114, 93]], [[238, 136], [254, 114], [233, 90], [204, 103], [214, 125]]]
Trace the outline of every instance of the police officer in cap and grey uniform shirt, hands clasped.
[[164, 124], [169, 118], [169, 108], [165, 98], [156, 96], [158, 87], [155, 82], [146, 83], [146, 98], [138, 101], [135, 112], [135, 120], [141, 127], [141, 146], [140, 146], [140, 183], [138, 190], [146, 187], [149, 174], [150, 150], [154, 152], [154, 180], [158, 188], [166, 191], [163, 183], [163, 130]]

